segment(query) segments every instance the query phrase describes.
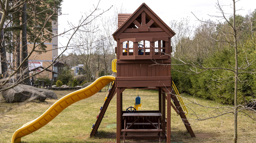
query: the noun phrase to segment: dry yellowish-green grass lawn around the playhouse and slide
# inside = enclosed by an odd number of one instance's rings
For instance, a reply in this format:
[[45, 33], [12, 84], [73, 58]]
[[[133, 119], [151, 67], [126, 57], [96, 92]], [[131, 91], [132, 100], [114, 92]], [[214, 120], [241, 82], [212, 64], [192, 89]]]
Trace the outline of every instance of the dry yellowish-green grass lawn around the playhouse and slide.
[[[21, 138], [23, 143], [52, 143], [52, 142], [65, 142], [65, 143], [114, 143], [116, 142], [116, 96], [110, 102], [106, 114], [99, 126], [97, 135], [89, 138], [91, 133], [92, 124], [96, 121], [96, 116], [103, 104], [103, 100], [107, 92], [98, 92], [94, 96], [85, 100], [76, 102], [64, 111], [62, 111], [55, 119], [53, 119], [46, 126], [38, 131], [24, 136]], [[65, 96], [72, 91], [54, 91], [58, 99]], [[157, 110], [158, 109], [158, 91], [154, 90], [139, 90], [141, 97], [142, 109], [141, 110]], [[210, 100], [193, 98], [192, 96], [183, 95], [190, 100], [207, 106], [218, 106], [218, 103]], [[135, 102], [136, 90], [126, 89], [123, 92], [123, 110], [132, 106]], [[0, 105], [7, 106], [0, 107], [0, 143], [10, 143], [11, 136], [15, 130], [20, 128], [23, 124], [39, 117], [44, 113], [53, 103], [57, 100], [47, 99], [41, 103], [32, 101], [29, 103], [5, 103], [0, 96]], [[171, 117], [171, 141], [177, 143], [214, 143], [214, 142], [232, 142], [233, 139], [233, 114], [226, 114], [224, 116], [208, 119], [203, 121], [196, 120], [197, 113], [199, 118], [207, 117], [205, 115], [212, 111], [200, 107], [196, 104], [191, 104], [189, 101], [184, 100], [189, 108], [187, 118], [192, 124], [192, 129], [196, 137], [191, 138], [187, 133], [180, 116], [172, 110]], [[255, 113], [246, 111], [251, 117], [256, 118]], [[217, 112], [212, 112], [212, 115], [217, 115]], [[10, 118], [11, 119], [10, 119]], [[238, 115], [238, 142], [250, 143], [256, 142], [256, 121], [253, 121], [245, 114], [239, 113]], [[6, 129], [5, 129], [6, 128]], [[7, 131], [7, 132], [6, 132]], [[135, 140], [127, 140], [127, 142], [138, 142]], [[145, 142], [145, 141], [140, 141]], [[152, 142], [158, 142], [157, 140]], [[162, 142], [166, 142], [163, 140]]]

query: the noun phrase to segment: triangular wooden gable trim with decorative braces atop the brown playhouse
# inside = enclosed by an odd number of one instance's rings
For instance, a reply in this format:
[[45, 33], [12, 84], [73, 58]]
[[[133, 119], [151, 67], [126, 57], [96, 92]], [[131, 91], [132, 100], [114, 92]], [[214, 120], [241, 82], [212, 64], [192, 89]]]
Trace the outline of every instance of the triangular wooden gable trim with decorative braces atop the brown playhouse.
[[[151, 17], [151, 20], [150, 22], [148, 22], [147, 24], [146, 23], [146, 20], [145, 18], [142, 18], [141, 19], [141, 23], [142, 25], [140, 26], [139, 22], [136, 20], [137, 17], [139, 15], [143, 15], [145, 16], [145, 14], [148, 14], [150, 17]], [[138, 23], [137, 23], [138, 22]], [[149, 27], [151, 26], [154, 22], [156, 22], [157, 24], [159, 24], [159, 26], [161, 27], [161, 29], [163, 31], [165, 31], [169, 36], [169, 38], [173, 37], [176, 33], [172, 31], [172, 29], [167, 25], [165, 24], [157, 15], [155, 12], [153, 12], [145, 3], [142, 3], [140, 5], [140, 7], [117, 29], [117, 31], [115, 33], [113, 33], [113, 38], [115, 40], [117, 40], [118, 36], [123, 33], [124, 31], [126, 31], [126, 29], [131, 25], [131, 24], [135, 24], [138, 29], [139, 29], [139, 32], [150, 32], [150, 30], [147, 30], [147, 29], [151, 29], [151, 28], [147, 28], [146, 27]], [[145, 25], [143, 25], [145, 24]], [[159, 27], [158, 27], [159, 28]], [[130, 29], [132, 29], [130, 27]], [[136, 28], [133, 28], [133, 29], [136, 29]], [[137, 32], [137, 30], [131, 30], [131, 31], [135, 31]], [[158, 31], [156, 31], [158, 32]], [[160, 32], [160, 31], [159, 31]]]

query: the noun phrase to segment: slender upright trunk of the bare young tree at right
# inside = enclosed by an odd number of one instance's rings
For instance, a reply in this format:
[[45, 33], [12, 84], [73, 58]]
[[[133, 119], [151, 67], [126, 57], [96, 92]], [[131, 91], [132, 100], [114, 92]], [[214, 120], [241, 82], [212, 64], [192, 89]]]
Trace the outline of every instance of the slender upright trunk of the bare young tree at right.
[[237, 142], [237, 85], [238, 85], [238, 51], [237, 51], [237, 33], [236, 33], [236, 8], [235, 8], [235, 0], [233, 0], [233, 28], [234, 28], [234, 48], [235, 48], [235, 99], [234, 99], [234, 138], [233, 143]]

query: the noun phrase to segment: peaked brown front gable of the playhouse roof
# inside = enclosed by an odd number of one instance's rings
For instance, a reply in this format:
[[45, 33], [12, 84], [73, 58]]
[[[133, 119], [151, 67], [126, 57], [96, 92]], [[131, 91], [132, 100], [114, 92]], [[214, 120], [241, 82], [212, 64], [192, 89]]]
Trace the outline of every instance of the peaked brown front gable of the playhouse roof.
[[[142, 12], [145, 12], [147, 16], [149, 16], [153, 21], [152, 24], [149, 21], [150, 25], [153, 27], [160, 27], [164, 32], [166, 32], [170, 37], [173, 37], [176, 33], [167, 25], [165, 24], [160, 17], [157, 16], [157, 14], [152, 11], [145, 3], [142, 3], [139, 8], [117, 29], [115, 33], [112, 34], [113, 38], [117, 40], [118, 35], [124, 32], [127, 28], [136, 28], [137, 25], [140, 25], [139, 23], [133, 24], [134, 21], [142, 14]], [[133, 24], [133, 25], [132, 25]], [[136, 26], [136, 27], [135, 27]], [[142, 26], [142, 25], [141, 25]], [[145, 27], [145, 25], [143, 25]], [[143, 27], [143, 28], [144, 28]], [[140, 28], [140, 27], [138, 27]], [[151, 27], [149, 27], [151, 28]]]

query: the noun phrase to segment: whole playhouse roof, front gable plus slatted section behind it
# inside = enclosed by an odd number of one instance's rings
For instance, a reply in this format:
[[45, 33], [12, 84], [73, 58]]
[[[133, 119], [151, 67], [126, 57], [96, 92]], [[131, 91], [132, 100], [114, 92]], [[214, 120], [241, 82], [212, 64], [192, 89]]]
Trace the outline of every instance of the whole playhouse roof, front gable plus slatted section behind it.
[[[142, 14], [144, 15], [144, 17], [146, 16], [144, 21], [141, 18], [139, 18], [139, 16], [141, 17]], [[173, 37], [176, 34], [145, 3], [142, 3], [139, 6], [139, 8], [133, 14], [131, 14], [130, 16], [129, 16], [129, 14], [121, 14], [121, 15], [118, 14], [118, 29], [112, 35], [114, 40], [117, 40], [118, 36], [121, 33], [123, 33], [127, 28], [128, 29], [129, 28], [134, 29], [134, 31], [135, 31], [135, 30], [140, 29], [140, 28], [144, 30], [145, 26], [147, 26], [147, 28], [149, 28], [149, 29], [150, 28], [159, 28], [160, 30], [166, 32], [170, 38]], [[121, 17], [122, 17], [122, 19], [121, 19]], [[140, 20], [140, 21], [138, 22], [136, 19]], [[142, 22], [144, 22], [146, 24], [145, 25], [140, 24]], [[121, 25], [119, 26], [119, 24], [121, 24]], [[140, 31], [138, 31], [138, 32], [140, 32]], [[142, 31], [142, 32], [145, 32], [145, 31]]]

